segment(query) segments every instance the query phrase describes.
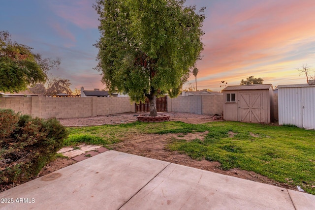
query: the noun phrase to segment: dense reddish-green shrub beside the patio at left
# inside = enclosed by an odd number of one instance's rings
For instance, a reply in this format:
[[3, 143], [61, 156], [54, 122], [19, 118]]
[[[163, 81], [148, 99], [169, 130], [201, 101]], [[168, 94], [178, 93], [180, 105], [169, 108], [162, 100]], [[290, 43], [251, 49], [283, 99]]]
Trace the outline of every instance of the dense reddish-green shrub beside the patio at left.
[[0, 115], [0, 122], [5, 122], [0, 139], [0, 184], [27, 181], [62, 147], [67, 130], [56, 119], [19, 116], [12, 110], [0, 113], [5, 113]]

